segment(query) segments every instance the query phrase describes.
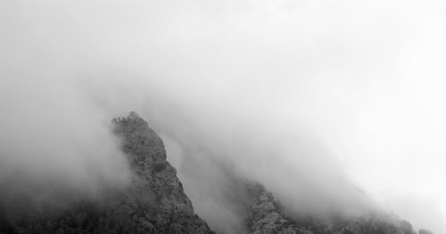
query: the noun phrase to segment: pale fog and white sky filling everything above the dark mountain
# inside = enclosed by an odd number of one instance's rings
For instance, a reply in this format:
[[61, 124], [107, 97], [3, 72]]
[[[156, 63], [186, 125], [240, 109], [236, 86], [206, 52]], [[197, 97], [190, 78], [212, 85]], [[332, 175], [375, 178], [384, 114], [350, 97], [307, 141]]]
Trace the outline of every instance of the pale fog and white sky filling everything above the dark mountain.
[[348, 203], [356, 195], [333, 182], [350, 181], [446, 233], [445, 11], [434, 0], [2, 1], [2, 198], [125, 183], [109, 121], [134, 110], [205, 219], [214, 160], [295, 209], [314, 191]]

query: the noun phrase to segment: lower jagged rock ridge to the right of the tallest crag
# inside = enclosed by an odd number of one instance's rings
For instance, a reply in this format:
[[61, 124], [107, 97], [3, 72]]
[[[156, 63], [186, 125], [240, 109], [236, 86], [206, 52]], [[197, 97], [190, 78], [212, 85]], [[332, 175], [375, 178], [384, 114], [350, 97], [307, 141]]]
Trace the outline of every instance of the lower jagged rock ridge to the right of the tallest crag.
[[415, 234], [408, 221], [384, 214], [369, 213], [359, 217], [290, 217], [282, 206], [258, 183], [242, 183], [251, 196], [245, 206], [248, 233], [277, 234]]

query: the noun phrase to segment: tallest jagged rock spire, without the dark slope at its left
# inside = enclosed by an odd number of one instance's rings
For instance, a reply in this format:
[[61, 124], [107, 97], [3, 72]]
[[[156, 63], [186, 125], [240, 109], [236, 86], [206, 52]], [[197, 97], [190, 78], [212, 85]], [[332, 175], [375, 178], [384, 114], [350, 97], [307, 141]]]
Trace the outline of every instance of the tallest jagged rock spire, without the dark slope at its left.
[[[153, 231], [160, 233], [213, 233], [194, 214], [192, 203], [178, 180], [177, 171], [166, 161], [161, 138], [148, 127], [147, 122], [136, 113], [113, 122], [115, 133], [122, 138], [122, 149], [136, 172], [131, 196], [127, 196], [125, 201], [133, 208], [131, 210], [138, 219], [145, 220], [147, 225], [153, 226]], [[138, 211], [136, 208], [141, 205], [155, 207]], [[147, 211], [153, 210], [157, 212], [147, 215]]]

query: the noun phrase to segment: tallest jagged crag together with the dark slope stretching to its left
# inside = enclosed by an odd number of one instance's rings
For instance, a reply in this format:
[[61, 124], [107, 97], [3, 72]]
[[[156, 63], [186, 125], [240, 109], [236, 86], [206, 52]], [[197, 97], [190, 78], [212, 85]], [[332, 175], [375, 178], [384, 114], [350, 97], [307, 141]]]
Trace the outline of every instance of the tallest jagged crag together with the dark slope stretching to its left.
[[214, 233], [194, 214], [177, 171], [166, 161], [161, 138], [147, 122], [130, 113], [113, 124], [134, 173], [127, 188], [111, 189], [99, 200], [80, 201], [45, 217], [11, 221], [0, 209], [0, 233]]

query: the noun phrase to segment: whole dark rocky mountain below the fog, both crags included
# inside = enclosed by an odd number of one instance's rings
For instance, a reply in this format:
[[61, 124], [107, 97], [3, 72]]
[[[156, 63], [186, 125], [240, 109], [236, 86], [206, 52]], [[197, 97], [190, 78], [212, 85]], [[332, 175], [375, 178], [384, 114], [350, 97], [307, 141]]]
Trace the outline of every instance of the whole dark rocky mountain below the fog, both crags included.
[[[166, 160], [160, 137], [136, 113], [112, 121], [133, 173], [124, 189], [110, 189], [100, 199], [82, 200], [57, 213], [8, 217], [0, 207], [0, 234], [10, 233], [153, 233], [212, 234], [194, 213], [176, 169]], [[229, 206], [242, 227], [236, 234], [415, 234], [408, 221], [386, 213], [325, 217], [286, 213], [259, 182], [232, 174]], [[219, 211], [215, 211], [219, 212]], [[419, 234], [432, 234], [419, 230]], [[226, 234], [226, 233], [221, 233]]]

